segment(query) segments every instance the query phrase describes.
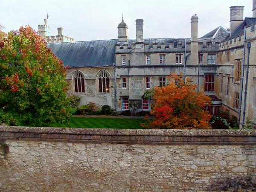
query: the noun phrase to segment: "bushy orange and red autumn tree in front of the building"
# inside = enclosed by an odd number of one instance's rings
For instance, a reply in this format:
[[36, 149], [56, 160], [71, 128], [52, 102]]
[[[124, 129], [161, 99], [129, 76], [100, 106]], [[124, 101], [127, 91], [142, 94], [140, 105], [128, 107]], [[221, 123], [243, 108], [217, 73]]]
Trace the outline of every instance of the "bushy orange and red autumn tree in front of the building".
[[155, 87], [148, 94], [151, 103], [152, 121], [143, 126], [156, 129], [209, 129], [211, 115], [204, 108], [211, 103], [203, 91], [197, 92], [192, 79], [171, 73], [169, 84]]

